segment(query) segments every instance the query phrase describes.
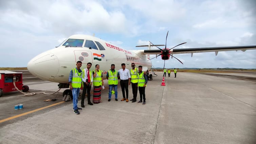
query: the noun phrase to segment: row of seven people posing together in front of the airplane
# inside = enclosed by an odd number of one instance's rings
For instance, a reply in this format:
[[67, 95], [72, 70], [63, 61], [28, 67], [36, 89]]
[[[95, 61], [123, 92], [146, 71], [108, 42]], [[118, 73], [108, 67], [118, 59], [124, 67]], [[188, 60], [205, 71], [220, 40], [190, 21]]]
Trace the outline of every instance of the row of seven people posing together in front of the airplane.
[[[82, 92], [82, 99], [81, 99], [81, 107], [84, 107], [84, 99], [85, 94], [87, 92], [87, 101], [88, 105], [93, 105], [93, 103], [97, 104], [101, 102], [101, 88], [104, 85], [103, 81], [103, 72], [100, 70], [100, 66], [98, 64], [95, 65], [95, 70], [90, 70], [92, 63], [87, 63], [86, 68], [80, 69], [82, 66], [81, 61], [77, 61], [75, 68], [70, 71], [70, 76], [68, 77], [68, 82], [70, 84], [70, 89], [72, 90], [73, 94], [73, 110], [76, 115], [80, 114], [79, 108], [77, 106], [78, 103], [78, 96], [80, 89], [83, 90]], [[112, 89], [114, 88], [115, 91], [115, 100], [117, 99], [117, 85], [118, 79], [120, 79], [120, 86], [122, 89], [123, 98], [121, 101], [129, 102], [128, 96], [128, 85], [132, 83], [132, 90], [133, 90], [133, 99], [130, 101], [136, 102], [137, 101], [137, 92], [139, 89], [140, 93], [140, 100], [137, 103], [143, 103], [142, 105], [146, 104], [145, 98], [145, 87], [147, 84], [147, 76], [146, 73], [142, 71], [142, 66], [135, 67], [135, 64], [132, 63], [132, 69], [126, 69], [125, 64], [121, 64], [122, 69], [115, 70], [115, 64], [111, 64], [111, 69], [107, 71], [106, 78], [109, 84], [109, 102], [111, 101]], [[91, 87], [93, 85], [93, 103], [91, 102]], [[125, 97], [126, 94], [126, 97]]]

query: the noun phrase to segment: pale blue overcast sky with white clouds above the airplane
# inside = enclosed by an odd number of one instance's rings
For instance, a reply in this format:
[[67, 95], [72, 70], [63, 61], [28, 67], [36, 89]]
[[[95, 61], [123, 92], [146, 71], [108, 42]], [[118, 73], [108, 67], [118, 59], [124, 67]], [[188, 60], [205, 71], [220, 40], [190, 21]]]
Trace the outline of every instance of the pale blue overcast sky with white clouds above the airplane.
[[[74, 34], [132, 50], [148, 41], [165, 44], [168, 30], [170, 48], [256, 45], [256, 1], [0, 0], [0, 67], [26, 67]], [[256, 68], [256, 50], [174, 56], [184, 65], [170, 59], [166, 68]], [[163, 67], [163, 60], [152, 64]]]

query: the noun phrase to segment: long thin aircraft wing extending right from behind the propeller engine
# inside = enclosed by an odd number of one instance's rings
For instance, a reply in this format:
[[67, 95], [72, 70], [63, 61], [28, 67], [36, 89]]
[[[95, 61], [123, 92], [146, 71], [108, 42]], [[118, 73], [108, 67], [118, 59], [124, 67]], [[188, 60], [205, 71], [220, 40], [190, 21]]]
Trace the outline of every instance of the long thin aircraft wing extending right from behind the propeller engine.
[[[242, 50], [245, 52], [247, 49], [256, 49], [256, 45], [249, 45], [249, 46], [227, 46], [227, 47], [200, 47], [200, 48], [174, 48], [171, 49], [172, 54], [188, 54], [188, 53], [203, 53], [203, 52], [215, 52], [215, 55], [218, 52], [222, 51], [232, 51], [232, 50]], [[161, 54], [160, 49], [147, 49], [144, 50], [144, 54]]]

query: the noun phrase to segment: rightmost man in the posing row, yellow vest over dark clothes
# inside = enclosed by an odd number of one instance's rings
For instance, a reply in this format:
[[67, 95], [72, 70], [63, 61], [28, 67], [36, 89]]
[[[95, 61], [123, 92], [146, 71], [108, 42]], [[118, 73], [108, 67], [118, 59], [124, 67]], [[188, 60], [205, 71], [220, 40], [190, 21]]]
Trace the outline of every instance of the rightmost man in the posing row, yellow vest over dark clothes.
[[140, 101], [138, 103], [142, 102], [143, 97], [143, 103], [142, 105], [146, 104], [146, 96], [145, 96], [145, 88], [147, 86], [147, 75], [142, 71], [142, 66], [139, 66], [139, 73], [138, 73], [138, 88], [140, 92]]

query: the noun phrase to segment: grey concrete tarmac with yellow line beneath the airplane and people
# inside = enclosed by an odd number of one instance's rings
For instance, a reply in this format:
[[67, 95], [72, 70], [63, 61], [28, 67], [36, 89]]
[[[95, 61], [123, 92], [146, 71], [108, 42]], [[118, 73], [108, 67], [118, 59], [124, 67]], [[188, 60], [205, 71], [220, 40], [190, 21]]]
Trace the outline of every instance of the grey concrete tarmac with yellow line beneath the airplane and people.
[[[105, 80], [102, 103], [85, 103], [80, 115], [74, 114], [71, 101], [62, 102], [62, 92], [34, 96], [6, 93], [0, 97], [0, 144], [256, 143], [254, 81], [178, 72], [176, 78], [173, 73], [164, 77], [166, 86], [161, 86], [163, 73], [157, 74], [146, 86], [145, 105], [120, 101], [120, 85], [118, 101], [112, 95], [108, 102]], [[30, 92], [58, 90], [57, 83], [31, 79], [24, 81]], [[130, 85], [129, 99], [132, 97]], [[49, 98], [57, 101], [43, 101]], [[14, 110], [19, 103], [23, 109]]]

